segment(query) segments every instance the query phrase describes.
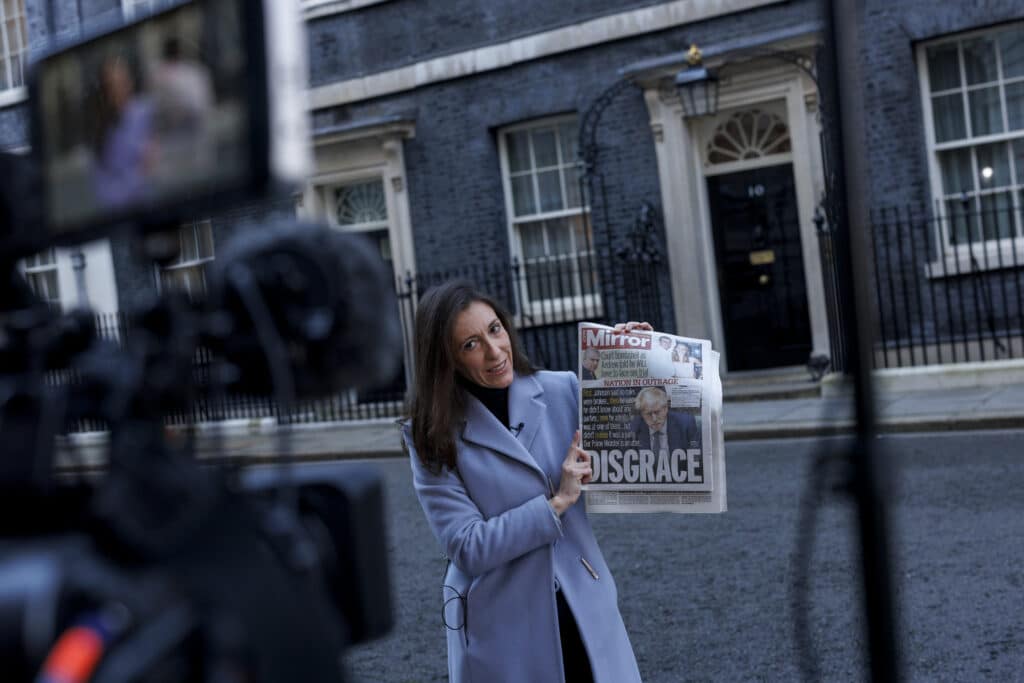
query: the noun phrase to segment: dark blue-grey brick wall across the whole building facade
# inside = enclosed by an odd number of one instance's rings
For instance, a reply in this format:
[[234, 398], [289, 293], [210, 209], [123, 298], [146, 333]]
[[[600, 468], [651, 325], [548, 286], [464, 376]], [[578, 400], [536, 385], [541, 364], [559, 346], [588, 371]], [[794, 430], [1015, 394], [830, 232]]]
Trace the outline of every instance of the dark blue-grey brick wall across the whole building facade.
[[[45, 43], [50, 26], [58, 35], [77, 33], [80, 17], [75, 0], [54, 0], [53, 17], [45, 14], [46, 2], [28, 0], [27, 4], [34, 50]], [[119, 0], [81, 0], [80, 4], [85, 25], [110, 20], [120, 8]], [[656, 3], [392, 0], [310, 22], [310, 81], [312, 85], [336, 82], [651, 4]], [[1024, 16], [1024, 7], [1019, 0], [867, 0], [864, 6], [861, 36], [865, 41], [863, 103], [870, 175], [867, 201], [872, 207], [923, 207], [930, 196], [914, 44], [1019, 19]], [[614, 83], [620, 69], [678, 53], [690, 42], [713, 45], [754, 37], [758, 32], [784, 29], [816, 15], [817, 3], [811, 0], [779, 3], [319, 111], [314, 114], [314, 127], [396, 115], [415, 120], [416, 136], [404, 142], [404, 154], [417, 267], [431, 271], [467, 261], [501, 261], [509, 254], [497, 140], [501, 127], [557, 114], [580, 115]], [[24, 104], [0, 109], [0, 145], [25, 144], [27, 137]], [[598, 140], [606, 203], [595, 203], [593, 222], [595, 229], [606, 230], [598, 233], [598, 246], [606, 245], [613, 252], [625, 244], [642, 202], [653, 204], [656, 215], [662, 213], [653, 142], [638, 91], [623, 92], [608, 108]], [[215, 221], [217, 242], [267, 212], [290, 215], [291, 210], [288, 201], [269, 209], [236, 208]], [[925, 244], [923, 229], [916, 233], [919, 249]], [[602, 242], [605, 237], [607, 241]], [[891, 234], [878, 236], [877, 247], [882, 258], [888, 259], [886, 267], [895, 266], [896, 272], [920, 280], [920, 259], [907, 257], [905, 249], [901, 256], [895, 240]], [[152, 270], [132, 265], [126, 248], [115, 249], [115, 261], [122, 297], [130, 299], [135, 292], [152, 287]], [[662, 286], [668, 293], [668, 274], [662, 276]], [[972, 301], [965, 302], [969, 308]], [[670, 302], [666, 313], [666, 323], [671, 325]], [[938, 325], [920, 316], [918, 324]]]

